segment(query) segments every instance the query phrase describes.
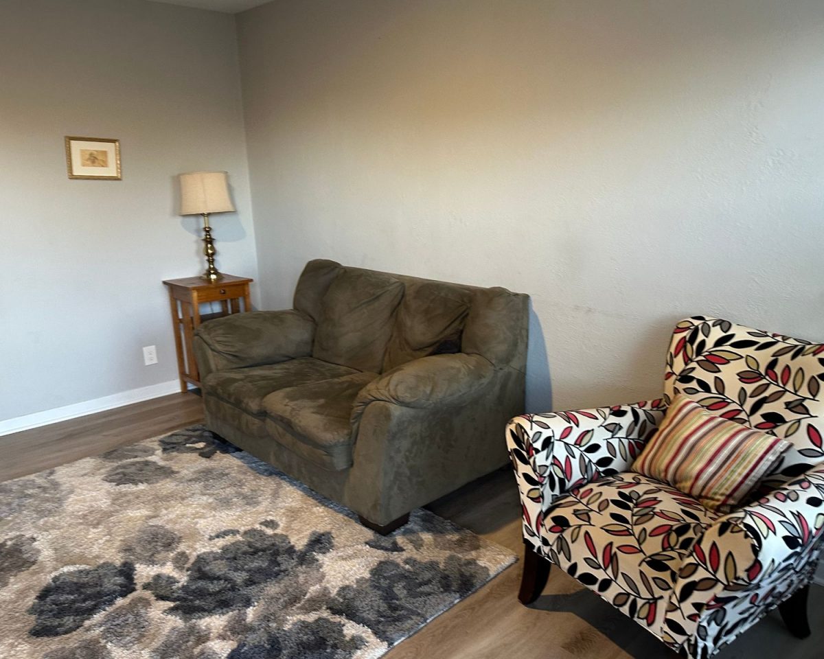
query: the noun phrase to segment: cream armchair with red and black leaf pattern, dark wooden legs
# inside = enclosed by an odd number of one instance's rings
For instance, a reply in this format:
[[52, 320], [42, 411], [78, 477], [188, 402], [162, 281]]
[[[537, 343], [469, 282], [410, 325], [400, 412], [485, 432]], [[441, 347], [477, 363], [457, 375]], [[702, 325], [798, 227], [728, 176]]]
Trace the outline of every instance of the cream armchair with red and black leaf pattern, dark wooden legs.
[[[824, 344], [695, 316], [675, 328], [662, 398], [513, 418], [521, 601], [541, 594], [555, 563], [693, 659], [712, 657], [776, 606], [791, 632], [808, 635], [824, 535], [822, 381]], [[733, 512], [630, 471], [678, 393], [792, 443]]]

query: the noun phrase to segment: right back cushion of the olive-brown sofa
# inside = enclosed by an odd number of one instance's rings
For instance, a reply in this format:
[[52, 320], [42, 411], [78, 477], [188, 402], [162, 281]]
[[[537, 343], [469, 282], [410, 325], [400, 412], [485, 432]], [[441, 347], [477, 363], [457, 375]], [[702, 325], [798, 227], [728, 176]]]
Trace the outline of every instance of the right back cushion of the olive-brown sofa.
[[428, 355], [460, 352], [471, 299], [470, 289], [456, 284], [407, 280], [386, 346], [383, 372]]

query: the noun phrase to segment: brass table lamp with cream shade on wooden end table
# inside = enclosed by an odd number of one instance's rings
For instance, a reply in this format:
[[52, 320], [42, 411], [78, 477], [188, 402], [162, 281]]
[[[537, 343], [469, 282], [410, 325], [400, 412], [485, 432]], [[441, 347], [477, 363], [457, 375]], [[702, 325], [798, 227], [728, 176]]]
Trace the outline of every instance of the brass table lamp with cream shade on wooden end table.
[[208, 226], [211, 213], [231, 213], [235, 210], [229, 197], [229, 185], [225, 171], [191, 171], [180, 175], [180, 215], [204, 216], [204, 255], [206, 272], [200, 278], [215, 282], [222, 274], [214, 267], [212, 227]]

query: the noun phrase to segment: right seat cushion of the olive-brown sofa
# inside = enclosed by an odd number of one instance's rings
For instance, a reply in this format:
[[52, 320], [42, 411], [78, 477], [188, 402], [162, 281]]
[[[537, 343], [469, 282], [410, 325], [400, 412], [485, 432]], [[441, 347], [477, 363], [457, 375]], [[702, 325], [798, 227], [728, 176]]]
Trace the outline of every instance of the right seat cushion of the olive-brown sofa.
[[352, 466], [352, 426], [349, 418], [358, 392], [377, 378], [363, 372], [334, 380], [290, 386], [266, 396], [267, 428], [277, 423], [288, 432], [274, 439], [298, 455], [328, 470]]

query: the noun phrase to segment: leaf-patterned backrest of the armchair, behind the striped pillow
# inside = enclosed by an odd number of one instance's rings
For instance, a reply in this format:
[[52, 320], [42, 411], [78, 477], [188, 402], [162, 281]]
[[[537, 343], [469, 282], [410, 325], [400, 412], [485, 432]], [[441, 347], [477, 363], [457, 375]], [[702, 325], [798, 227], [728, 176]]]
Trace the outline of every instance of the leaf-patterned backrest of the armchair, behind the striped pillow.
[[824, 463], [824, 344], [696, 315], [672, 334], [664, 399], [686, 395], [724, 418], [793, 446], [770, 481]]

